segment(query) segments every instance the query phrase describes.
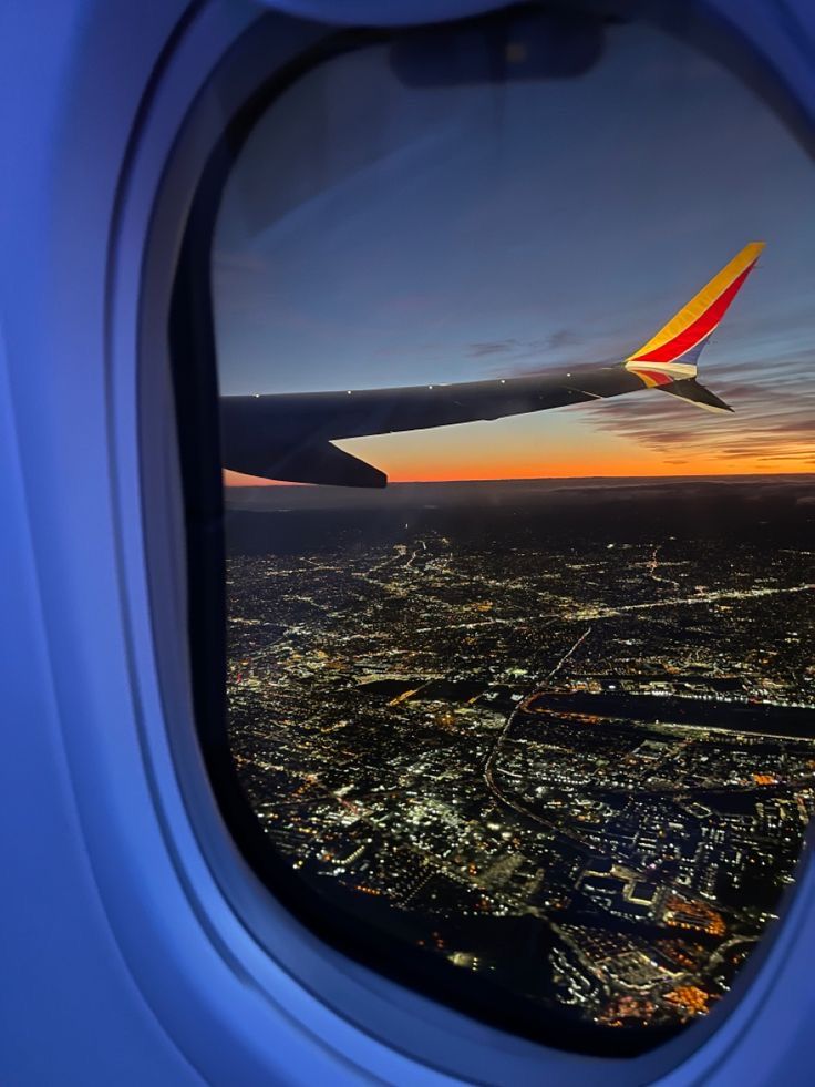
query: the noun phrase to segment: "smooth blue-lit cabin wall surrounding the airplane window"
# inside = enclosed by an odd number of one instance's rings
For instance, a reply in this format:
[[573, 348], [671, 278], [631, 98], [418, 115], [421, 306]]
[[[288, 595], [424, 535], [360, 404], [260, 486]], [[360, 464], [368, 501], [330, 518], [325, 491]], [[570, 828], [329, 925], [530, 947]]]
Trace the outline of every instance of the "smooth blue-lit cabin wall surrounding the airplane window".
[[[178, 208], [196, 183], [176, 175], [156, 217], [178, 133], [269, 8], [283, 60], [320, 31], [301, 20], [421, 23], [494, 7], [60, 0], [0, 11], [3, 1083], [635, 1081], [625, 1063], [506, 1034], [323, 945], [233, 845], [189, 724], [166, 336], [141, 324], [143, 275], [154, 275], [148, 296], [167, 294]], [[797, 123], [815, 124], [806, 0], [705, 10], [772, 58]], [[229, 120], [207, 109], [210, 131]], [[194, 134], [189, 163], [203, 160]], [[145, 340], [155, 355], [143, 386]], [[166, 513], [155, 491], [145, 496], [145, 464], [165, 479]], [[145, 517], [165, 526], [163, 557]], [[811, 1081], [814, 915], [808, 864], [737, 1006], [703, 1044], [672, 1050], [673, 1067], [646, 1054], [637, 1081]], [[269, 930], [290, 957], [297, 948], [300, 973], [269, 954], [258, 936]]]

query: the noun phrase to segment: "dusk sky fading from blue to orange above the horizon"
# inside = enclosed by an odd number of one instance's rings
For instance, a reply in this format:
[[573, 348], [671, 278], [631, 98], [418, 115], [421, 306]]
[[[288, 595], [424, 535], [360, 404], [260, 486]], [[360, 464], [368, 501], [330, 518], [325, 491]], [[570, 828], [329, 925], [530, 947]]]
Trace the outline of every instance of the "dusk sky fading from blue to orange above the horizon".
[[782, 122], [656, 30], [612, 28], [577, 78], [452, 88], [358, 50], [286, 91], [230, 175], [221, 392], [622, 360], [763, 240], [700, 359], [733, 416], [643, 391], [338, 444], [393, 482], [815, 471], [814, 213], [815, 163]]

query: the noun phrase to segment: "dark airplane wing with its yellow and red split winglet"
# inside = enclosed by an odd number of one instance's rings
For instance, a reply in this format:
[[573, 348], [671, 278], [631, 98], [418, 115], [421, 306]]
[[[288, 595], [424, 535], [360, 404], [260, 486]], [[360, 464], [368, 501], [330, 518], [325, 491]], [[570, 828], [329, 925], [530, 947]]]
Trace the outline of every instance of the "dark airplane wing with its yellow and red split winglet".
[[223, 397], [224, 465], [296, 483], [385, 486], [383, 472], [332, 442], [502, 419], [643, 388], [660, 389], [709, 410], [730, 411], [697, 381], [698, 359], [763, 247], [761, 242], [745, 246], [639, 351], [613, 366], [454, 384]]

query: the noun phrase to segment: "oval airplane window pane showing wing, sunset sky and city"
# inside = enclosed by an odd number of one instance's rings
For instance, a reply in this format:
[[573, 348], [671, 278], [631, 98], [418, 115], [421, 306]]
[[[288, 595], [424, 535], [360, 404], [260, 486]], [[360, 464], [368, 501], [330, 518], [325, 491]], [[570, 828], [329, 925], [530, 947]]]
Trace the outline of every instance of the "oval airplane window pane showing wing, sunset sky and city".
[[812, 183], [733, 73], [563, 17], [362, 43], [234, 141], [227, 731], [269, 882], [520, 1033], [672, 1037], [793, 888]]

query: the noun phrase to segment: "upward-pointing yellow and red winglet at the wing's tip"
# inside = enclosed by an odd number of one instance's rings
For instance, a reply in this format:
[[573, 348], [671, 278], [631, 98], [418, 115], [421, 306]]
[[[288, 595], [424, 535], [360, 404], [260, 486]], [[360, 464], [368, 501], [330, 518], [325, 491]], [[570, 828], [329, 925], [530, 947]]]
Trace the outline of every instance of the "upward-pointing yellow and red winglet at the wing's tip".
[[649, 387], [693, 377], [699, 351], [724, 317], [763, 248], [763, 242], [745, 245], [684, 309], [626, 359], [626, 369]]

